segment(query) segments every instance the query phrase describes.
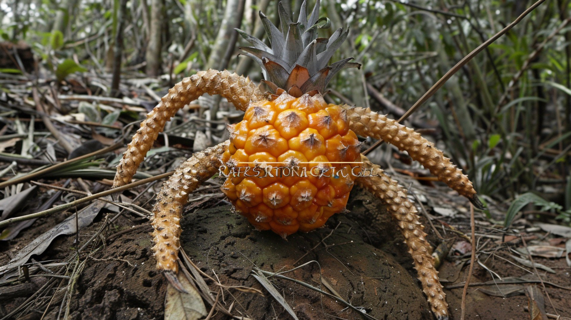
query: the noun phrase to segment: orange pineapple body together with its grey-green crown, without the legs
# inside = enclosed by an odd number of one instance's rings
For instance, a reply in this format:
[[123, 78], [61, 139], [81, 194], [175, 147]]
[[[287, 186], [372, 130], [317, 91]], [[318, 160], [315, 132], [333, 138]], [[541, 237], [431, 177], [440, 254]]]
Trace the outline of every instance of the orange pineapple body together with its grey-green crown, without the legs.
[[328, 26], [327, 19], [318, 19], [319, 2], [309, 20], [300, 14], [293, 23], [281, 3], [279, 12], [282, 31], [260, 13], [271, 48], [238, 30], [252, 44], [240, 49], [260, 63], [272, 94], [252, 102], [243, 121], [228, 126], [222, 190], [252, 225], [286, 238], [345, 210], [360, 143], [347, 110], [327, 105], [321, 93], [339, 70], [360, 65], [349, 63], [351, 58], [328, 65], [348, 33], [338, 29], [327, 40], [316, 39], [317, 28]]

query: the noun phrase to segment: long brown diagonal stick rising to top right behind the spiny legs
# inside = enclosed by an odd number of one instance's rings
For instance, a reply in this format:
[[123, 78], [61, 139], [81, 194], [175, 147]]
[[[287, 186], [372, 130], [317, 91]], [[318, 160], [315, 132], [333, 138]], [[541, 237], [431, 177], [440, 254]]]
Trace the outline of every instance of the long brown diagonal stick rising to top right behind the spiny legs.
[[[439, 81], [437, 81], [431, 87], [431, 89], [428, 89], [428, 91], [422, 97], [420, 97], [420, 99], [417, 102], [415, 102], [414, 105], [412, 105], [411, 109], [408, 109], [408, 111], [402, 117], [400, 117], [399, 121], [397, 122], [401, 122], [404, 119], [408, 118], [409, 115], [411, 115], [413, 112], [416, 111], [416, 109], [420, 107], [420, 105], [422, 105], [424, 102], [427, 102], [427, 100], [430, 97], [432, 97], [432, 95], [434, 95], [436, 91], [438, 91], [438, 89], [440, 89], [440, 87], [442, 87], [444, 83], [446, 83], [448, 79], [452, 77], [452, 75], [454, 75], [458, 70], [460, 70], [461, 67], [463, 67], [466, 63], [472, 60], [472, 58], [476, 57], [476, 55], [480, 53], [482, 50], [486, 49], [486, 47], [491, 45], [492, 42], [496, 41], [498, 38], [500, 38], [502, 35], [504, 35], [506, 32], [512, 29], [515, 25], [520, 23], [521, 19], [525, 18], [526, 15], [528, 15], [531, 11], [535, 10], [539, 5], [541, 5], [541, 3], [544, 2], [545, 0], [539, 0], [536, 3], [533, 3], [533, 5], [528, 8], [528, 10], [525, 10], [524, 13], [522, 13], [519, 17], [517, 17], [517, 19], [515, 19], [512, 23], [510, 23], [500, 32], [494, 34], [492, 38], [489, 38], [486, 42], [479, 45], [476, 49], [472, 50], [472, 52], [469, 53], [466, 57], [462, 58], [458, 63], [456, 63], [455, 66], [452, 67], [452, 69], [448, 70], [448, 72], [445, 75], [443, 75], [442, 78], [440, 78]], [[369, 152], [376, 149], [376, 147], [378, 147], [381, 143], [383, 143], [383, 140], [377, 141], [369, 149], [365, 150], [363, 154], [367, 155]]]

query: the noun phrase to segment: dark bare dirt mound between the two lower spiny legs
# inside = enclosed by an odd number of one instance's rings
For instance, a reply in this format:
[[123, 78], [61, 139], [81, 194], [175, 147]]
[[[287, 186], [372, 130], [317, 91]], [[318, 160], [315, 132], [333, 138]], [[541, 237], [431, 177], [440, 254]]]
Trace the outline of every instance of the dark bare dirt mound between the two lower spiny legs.
[[[252, 267], [279, 272], [311, 263], [286, 277], [320, 287], [320, 277], [345, 301], [375, 318], [431, 319], [428, 303], [407, 271], [388, 254], [363, 241], [363, 232], [347, 215], [337, 215], [329, 227], [297, 233], [287, 241], [271, 232], [259, 232], [229, 207], [200, 211], [187, 217], [182, 243], [202, 271], [224, 285], [266, 290], [250, 276]], [[331, 227], [336, 228], [332, 230]], [[329, 235], [331, 234], [331, 235]], [[322, 239], [324, 239], [322, 241]], [[214, 271], [214, 272], [213, 272]], [[332, 298], [287, 280], [274, 285], [300, 319], [320, 319], [325, 314], [359, 317]], [[236, 294], [236, 308], [252, 319], [287, 319], [289, 315], [269, 294]], [[230, 302], [234, 298], [229, 298]]]

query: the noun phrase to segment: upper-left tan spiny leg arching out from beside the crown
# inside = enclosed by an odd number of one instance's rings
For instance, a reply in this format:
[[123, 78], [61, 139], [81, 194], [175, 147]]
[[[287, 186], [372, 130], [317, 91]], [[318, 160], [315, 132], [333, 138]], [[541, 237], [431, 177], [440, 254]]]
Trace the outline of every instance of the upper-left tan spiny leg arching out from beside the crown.
[[147, 114], [140, 124], [139, 130], [133, 135], [132, 141], [123, 153], [123, 158], [117, 166], [113, 187], [126, 185], [143, 162], [147, 151], [159, 133], [164, 129], [164, 123], [172, 118], [176, 111], [191, 101], [198, 99], [204, 93], [219, 94], [232, 102], [237, 109], [245, 111], [250, 101], [258, 101], [264, 95], [248, 78], [228, 71], [208, 70], [198, 71], [191, 77], [184, 78], [168, 90], [160, 103]]

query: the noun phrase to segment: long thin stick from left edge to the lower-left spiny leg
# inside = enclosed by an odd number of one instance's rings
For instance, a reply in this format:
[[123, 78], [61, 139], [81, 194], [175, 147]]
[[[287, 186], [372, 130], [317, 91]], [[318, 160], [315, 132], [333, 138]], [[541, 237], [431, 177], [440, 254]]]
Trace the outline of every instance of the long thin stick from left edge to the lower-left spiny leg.
[[71, 207], [77, 206], [83, 202], [91, 201], [91, 200], [94, 200], [94, 199], [97, 199], [100, 197], [105, 197], [106, 195], [114, 194], [114, 193], [117, 193], [119, 191], [129, 189], [131, 187], [144, 185], [145, 183], [148, 183], [148, 182], [152, 182], [152, 181], [155, 181], [158, 179], [166, 178], [166, 177], [172, 175], [174, 172], [175, 171], [170, 171], [167, 173], [155, 175], [155, 177], [142, 179], [142, 180], [139, 180], [136, 182], [131, 182], [128, 185], [116, 187], [114, 189], [105, 190], [105, 191], [102, 191], [100, 193], [90, 195], [89, 197], [77, 199], [77, 200], [69, 202], [69, 203], [64, 203], [63, 205], [55, 206], [55, 207], [48, 209], [48, 210], [39, 211], [37, 213], [22, 215], [21, 217], [14, 217], [14, 218], [6, 219], [5, 221], [0, 221], [0, 228], [5, 227], [5, 226], [9, 226], [13, 223], [20, 222], [20, 221], [26, 221], [26, 220], [34, 219], [34, 218], [41, 218], [41, 217], [44, 217], [46, 215], [57, 213], [59, 211], [63, 211], [63, 210], [69, 209]]

